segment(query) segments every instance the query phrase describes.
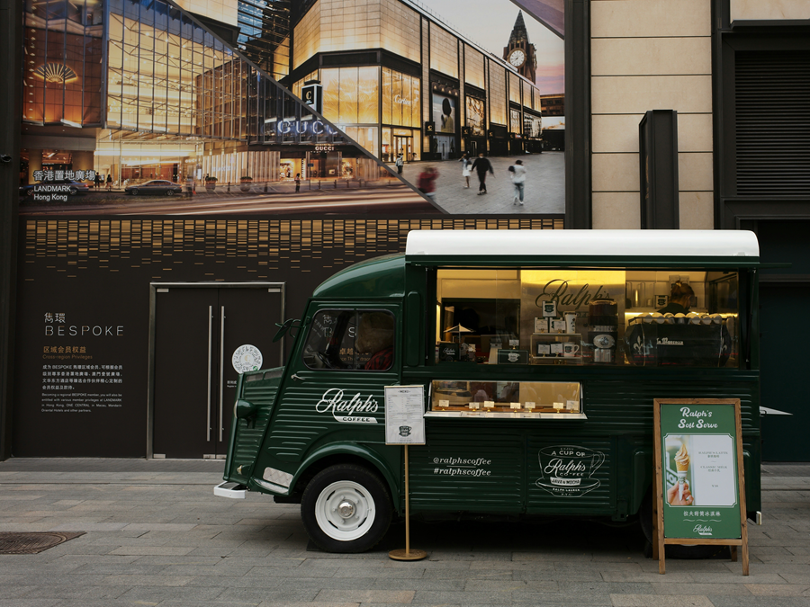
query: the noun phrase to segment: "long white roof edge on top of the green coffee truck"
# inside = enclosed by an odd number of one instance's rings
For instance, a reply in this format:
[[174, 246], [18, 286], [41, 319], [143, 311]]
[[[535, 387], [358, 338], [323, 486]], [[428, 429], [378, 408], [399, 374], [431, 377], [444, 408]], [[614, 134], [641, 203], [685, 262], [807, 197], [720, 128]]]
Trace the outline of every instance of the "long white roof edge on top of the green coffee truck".
[[405, 255], [759, 257], [760, 245], [743, 230], [413, 230]]

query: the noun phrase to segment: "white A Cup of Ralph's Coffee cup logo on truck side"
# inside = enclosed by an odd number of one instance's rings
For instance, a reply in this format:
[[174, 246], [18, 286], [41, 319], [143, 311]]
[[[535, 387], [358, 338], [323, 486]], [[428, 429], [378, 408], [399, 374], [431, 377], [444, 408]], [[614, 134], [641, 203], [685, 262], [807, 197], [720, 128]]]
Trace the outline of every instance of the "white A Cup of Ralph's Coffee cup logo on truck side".
[[538, 453], [543, 478], [536, 486], [558, 497], [579, 497], [596, 489], [601, 483], [592, 478], [605, 463], [605, 454], [588, 447], [554, 445]]

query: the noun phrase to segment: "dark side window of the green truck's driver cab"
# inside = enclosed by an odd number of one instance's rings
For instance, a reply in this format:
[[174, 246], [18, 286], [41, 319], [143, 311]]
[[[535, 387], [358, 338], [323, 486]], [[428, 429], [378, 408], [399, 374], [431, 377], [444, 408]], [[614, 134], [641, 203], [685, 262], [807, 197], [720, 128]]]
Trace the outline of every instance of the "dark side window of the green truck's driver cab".
[[389, 370], [393, 346], [394, 317], [387, 310], [319, 310], [303, 362], [310, 369]]

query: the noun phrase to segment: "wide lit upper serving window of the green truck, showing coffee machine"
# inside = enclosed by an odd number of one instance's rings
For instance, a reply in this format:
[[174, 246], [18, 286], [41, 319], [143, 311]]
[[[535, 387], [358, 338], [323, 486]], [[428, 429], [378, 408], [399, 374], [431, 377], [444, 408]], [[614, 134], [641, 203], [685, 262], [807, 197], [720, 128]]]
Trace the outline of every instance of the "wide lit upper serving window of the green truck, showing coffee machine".
[[736, 272], [437, 272], [436, 362], [738, 367]]

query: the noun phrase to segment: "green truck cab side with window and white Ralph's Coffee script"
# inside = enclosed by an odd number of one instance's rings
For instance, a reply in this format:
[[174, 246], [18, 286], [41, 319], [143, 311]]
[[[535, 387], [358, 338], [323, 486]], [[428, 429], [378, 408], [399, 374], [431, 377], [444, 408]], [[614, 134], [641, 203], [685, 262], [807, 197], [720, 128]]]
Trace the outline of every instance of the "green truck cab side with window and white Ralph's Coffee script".
[[388, 303], [311, 306], [257, 477], [265, 468], [294, 474], [314, 447], [329, 443], [384, 444], [384, 387], [400, 379], [400, 312]]

